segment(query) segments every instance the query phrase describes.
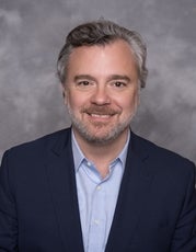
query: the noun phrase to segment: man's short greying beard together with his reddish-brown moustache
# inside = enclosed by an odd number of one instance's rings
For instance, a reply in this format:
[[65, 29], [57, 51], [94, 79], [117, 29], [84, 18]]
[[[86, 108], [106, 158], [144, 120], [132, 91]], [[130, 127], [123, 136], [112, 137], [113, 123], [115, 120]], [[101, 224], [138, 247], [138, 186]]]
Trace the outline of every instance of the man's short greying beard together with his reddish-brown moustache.
[[[69, 104], [67, 104], [67, 108], [72, 122], [72, 126], [79, 133], [79, 135], [88, 142], [103, 146], [117, 139], [124, 131], [126, 131], [130, 127], [130, 122], [136, 114], [137, 105], [135, 105], [132, 113], [127, 115], [123, 121], [111, 125], [108, 128], [107, 128], [107, 123], [83, 122], [81, 118], [76, 116], [76, 114], [73, 113]], [[107, 106], [102, 107], [96, 105], [84, 107], [81, 110], [81, 113], [109, 115], [109, 116], [115, 116], [116, 114], [120, 114], [119, 111], [112, 110]], [[90, 129], [91, 126], [94, 127], [94, 130]], [[99, 134], [100, 131], [104, 131], [104, 133]]]

